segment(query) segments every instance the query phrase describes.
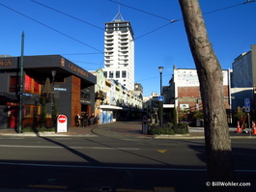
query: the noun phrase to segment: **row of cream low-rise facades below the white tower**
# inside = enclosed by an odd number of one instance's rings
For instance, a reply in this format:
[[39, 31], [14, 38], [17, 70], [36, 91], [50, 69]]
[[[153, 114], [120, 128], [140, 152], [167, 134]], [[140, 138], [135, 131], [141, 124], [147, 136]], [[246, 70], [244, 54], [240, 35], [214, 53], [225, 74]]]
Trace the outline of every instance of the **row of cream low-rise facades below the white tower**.
[[113, 79], [103, 75], [103, 69], [93, 72], [97, 76], [95, 112], [100, 123], [111, 123], [139, 118], [142, 113], [143, 97], [137, 95]]

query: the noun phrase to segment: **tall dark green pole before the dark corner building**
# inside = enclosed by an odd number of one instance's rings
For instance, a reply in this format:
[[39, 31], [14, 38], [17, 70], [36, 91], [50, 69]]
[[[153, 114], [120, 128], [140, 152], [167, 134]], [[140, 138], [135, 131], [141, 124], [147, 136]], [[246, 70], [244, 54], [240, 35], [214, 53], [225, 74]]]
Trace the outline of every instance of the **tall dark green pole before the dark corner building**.
[[23, 113], [23, 81], [24, 81], [24, 32], [21, 34], [21, 55], [19, 60], [19, 106], [18, 106], [18, 123], [17, 133], [21, 133], [22, 130], [22, 113]]

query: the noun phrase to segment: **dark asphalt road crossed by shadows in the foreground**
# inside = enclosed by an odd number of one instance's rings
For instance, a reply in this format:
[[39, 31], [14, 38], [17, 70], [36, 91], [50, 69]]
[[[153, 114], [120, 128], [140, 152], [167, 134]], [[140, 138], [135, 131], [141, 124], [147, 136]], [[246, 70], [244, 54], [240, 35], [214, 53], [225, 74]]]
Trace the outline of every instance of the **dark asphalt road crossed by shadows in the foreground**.
[[[255, 140], [232, 141], [239, 191], [256, 191]], [[204, 191], [204, 140], [0, 137], [0, 191]]]

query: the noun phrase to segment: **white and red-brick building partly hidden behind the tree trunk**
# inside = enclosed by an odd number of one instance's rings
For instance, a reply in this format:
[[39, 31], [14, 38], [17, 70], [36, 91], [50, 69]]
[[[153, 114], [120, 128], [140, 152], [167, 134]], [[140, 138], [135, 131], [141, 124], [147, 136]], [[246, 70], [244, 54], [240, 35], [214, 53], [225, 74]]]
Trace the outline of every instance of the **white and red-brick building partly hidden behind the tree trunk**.
[[[224, 104], [228, 117], [231, 110], [230, 70], [222, 70]], [[182, 120], [191, 121], [196, 111], [203, 109], [196, 69], [173, 69], [168, 102], [174, 104]]]

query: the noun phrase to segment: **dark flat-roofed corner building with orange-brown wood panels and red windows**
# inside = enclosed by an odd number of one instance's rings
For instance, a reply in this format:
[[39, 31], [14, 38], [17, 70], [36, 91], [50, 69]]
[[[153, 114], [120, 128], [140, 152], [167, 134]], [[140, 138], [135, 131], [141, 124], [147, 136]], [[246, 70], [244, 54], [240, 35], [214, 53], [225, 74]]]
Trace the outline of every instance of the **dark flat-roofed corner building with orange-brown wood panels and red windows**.
[[[35, 126], [45, 99], [46, 126], [51, 126], [54, 107], [75, 125], [76, 114], [95, 110], [97, 78], [61, 55], [25, 56], [23, 84], [23, 127]], [[52, 72], [54, 71], [54, 76]], [[19, 105], [20, 58], [0, 58], [0, 128], [15, 128]]]

